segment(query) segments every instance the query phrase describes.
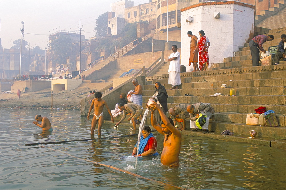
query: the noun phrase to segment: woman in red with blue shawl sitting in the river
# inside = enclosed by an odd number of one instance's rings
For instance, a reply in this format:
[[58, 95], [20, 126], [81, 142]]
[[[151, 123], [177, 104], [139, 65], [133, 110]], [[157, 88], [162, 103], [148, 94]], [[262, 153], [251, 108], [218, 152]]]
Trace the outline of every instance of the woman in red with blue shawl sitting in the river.
[[157, 140], [151, 133], [151, 129], [149, 126], [144, 126], [142, 129], [142, 136], [140, 139], [140, 144], [138, 147], [138, 155], [137, 154], [137, 143], [133, 149], [132, 156], [157, 156]]

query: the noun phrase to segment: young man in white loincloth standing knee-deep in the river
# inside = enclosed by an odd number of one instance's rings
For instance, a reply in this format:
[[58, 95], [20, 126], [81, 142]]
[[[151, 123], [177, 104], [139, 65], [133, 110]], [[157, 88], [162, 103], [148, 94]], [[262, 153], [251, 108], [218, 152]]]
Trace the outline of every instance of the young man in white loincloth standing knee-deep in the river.
[[91, 122], [90, 131], [91, 131], [91, 134], [94, 135], [94, 129], [95, 129], [96, 125], [98, 124], [98, 136], [100, 136], [101, 135], [101, 126], [103, 123], [103, 112], [102, 111], [103, 111], [104, 106], [106, 106], [106, 109], [108, 110], [108, 113], [111, 116], [111, 121], [114, 122], [114, 120], [113, 120], [111, 111], [107, 105], [107, 102], [105, 100], [101, 99], [101, 97], [102, 97], [101, 92], [94, 93], [94, 96], [95, 96], [95, 98], [92, 100], [92, 104], [91, 104], [90, 110], [88, 112], [88, 119], [90, 117], [90, 112], [91, 112], [92, 108], [94, 108], [94, 117], [93, 117], [92, 122]]

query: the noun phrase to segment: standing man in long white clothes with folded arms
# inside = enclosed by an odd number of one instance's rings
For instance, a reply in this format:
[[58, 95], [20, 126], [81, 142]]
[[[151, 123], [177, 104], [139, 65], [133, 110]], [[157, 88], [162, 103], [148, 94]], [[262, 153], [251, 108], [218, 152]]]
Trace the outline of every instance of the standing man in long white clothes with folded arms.
[[170, 90], [179, 89], [178, 86], [181, 84], [180, 78], [180, 53], [177, 51], [177, 46], [172, 45], [173, 53], [168, 57], [170, 61], [168, 73], [169, 73], [169, 84], [172, 85]]

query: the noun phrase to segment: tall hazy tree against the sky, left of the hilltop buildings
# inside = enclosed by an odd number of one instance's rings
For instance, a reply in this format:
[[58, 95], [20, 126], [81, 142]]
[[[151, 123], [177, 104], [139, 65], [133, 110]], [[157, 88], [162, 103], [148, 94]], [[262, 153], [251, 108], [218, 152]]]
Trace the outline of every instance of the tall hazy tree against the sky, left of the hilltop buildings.
[[108, 28], [108, 12], [102, 13], [95, 19], [95, 28], [97, 37], [106, 37]]

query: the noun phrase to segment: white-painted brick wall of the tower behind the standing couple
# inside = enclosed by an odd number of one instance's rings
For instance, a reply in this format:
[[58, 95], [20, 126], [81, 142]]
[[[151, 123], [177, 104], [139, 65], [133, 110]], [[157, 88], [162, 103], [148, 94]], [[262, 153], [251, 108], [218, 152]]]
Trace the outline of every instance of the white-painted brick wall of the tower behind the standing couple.
[[[217, 1], [216, 1], [217, 2]], [[215, 19], [215, 12], [220, 12], [220, 19]], [[186, 23], [188, 16], [193, 17], [193, 23]], [[236, 5], [203, 5], [182, 11], [182, 53], [181, 64], [186, 66], [186, 72], [193, 70], [188, 66], [190, 56], [190, 38], [188, 31], [199, 38], [198, 31], [203, 30], [210, 40], [209, 58], [212, 63], [221, 63], [223, 58], [232, 57], [247, 42], [249, 34], [253, 33], [254, 9]]]

